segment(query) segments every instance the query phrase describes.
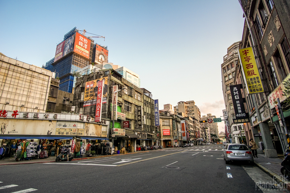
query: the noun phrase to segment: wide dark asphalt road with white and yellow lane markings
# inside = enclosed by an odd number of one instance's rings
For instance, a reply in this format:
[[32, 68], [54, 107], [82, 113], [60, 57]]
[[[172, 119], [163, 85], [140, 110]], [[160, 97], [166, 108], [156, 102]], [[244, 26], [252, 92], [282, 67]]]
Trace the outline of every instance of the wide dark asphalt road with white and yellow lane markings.
[[244, 164], [226, 165], [222, 145], [209, 145], [0, 166], [0, 192], [283, 192], [260, 190], [271, 178]]

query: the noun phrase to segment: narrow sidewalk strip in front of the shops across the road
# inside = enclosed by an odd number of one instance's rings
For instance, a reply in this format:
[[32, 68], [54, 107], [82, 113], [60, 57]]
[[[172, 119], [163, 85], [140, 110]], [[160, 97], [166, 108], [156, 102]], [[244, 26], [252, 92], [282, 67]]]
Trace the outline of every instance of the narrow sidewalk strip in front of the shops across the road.
[[[93, 158], [99, 158], [99, 157], [117, 156], [117, 155], [128, 155], [128, 154], [143, 153], [143, 152], [149, 152], [149, 151], [137, 151], [137, 152], [128, 152], [126, 154], [113, 154], [113, 155], [93, 155], [92, 157], [74, 158], [73, 161], [82, 160], [82, 159], [93, 159]], [[15, 161], [14, 158], [9, 158], [9, 159], [0, 160], [0, 166], [30, 164], [30, 163], [48, 163], [48, 162], [55, 162], [55, 156], [50, 156], [44, 159], [32, 159], [32, 160], [24, 160], [24, 161]]]

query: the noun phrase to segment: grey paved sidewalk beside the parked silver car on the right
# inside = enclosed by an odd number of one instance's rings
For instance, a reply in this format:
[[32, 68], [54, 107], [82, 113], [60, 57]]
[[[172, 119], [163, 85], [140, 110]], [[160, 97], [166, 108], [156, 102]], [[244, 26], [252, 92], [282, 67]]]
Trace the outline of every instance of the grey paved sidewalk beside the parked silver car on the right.
[[284, 156], [278, 158], [267, 158], [264, 154], [258, 154], [258, 158], [254, 158], [254, 162], [256, 166], [264, 170], [264, 172], [273, 177], [274, 180], [286, 184], [287, 189], [290, 190], [290, 182], [285, 179], [280, 172], [283, 159]]

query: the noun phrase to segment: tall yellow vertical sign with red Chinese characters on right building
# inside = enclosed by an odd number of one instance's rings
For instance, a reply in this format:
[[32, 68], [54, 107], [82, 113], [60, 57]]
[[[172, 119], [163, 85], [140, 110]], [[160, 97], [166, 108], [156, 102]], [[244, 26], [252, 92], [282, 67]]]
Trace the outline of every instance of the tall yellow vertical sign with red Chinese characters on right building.
[[239, 49], [239, 56], [247, 82], [248, 93], [255, 94], [264, 92], [262, 80], [255, 61], [253, 48], [247, 47]]

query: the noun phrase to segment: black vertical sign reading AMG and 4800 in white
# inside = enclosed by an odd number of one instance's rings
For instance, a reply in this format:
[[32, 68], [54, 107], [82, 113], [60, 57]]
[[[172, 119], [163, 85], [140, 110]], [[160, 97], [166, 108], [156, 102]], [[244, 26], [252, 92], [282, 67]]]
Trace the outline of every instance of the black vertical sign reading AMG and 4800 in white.
[[[235, 110], [235, 118], [236, 119], [243, 119], [244, 120], [243, 123], [244, 123], [246, 121], [248, 122], [249, 114], [246, 113], [246, 109], [244, 106], [240, 86], [241, 86], [241, 84], [231, 85], [230, 91], [231, 91], [231, 97], [232, 97], [232, 101], [233, 101], [233, 107]], [[245, 119], [247, 119], [247, 120], [245, 120]], [[240, 123], [242, 123], [242, 122], [240, 122]]]

